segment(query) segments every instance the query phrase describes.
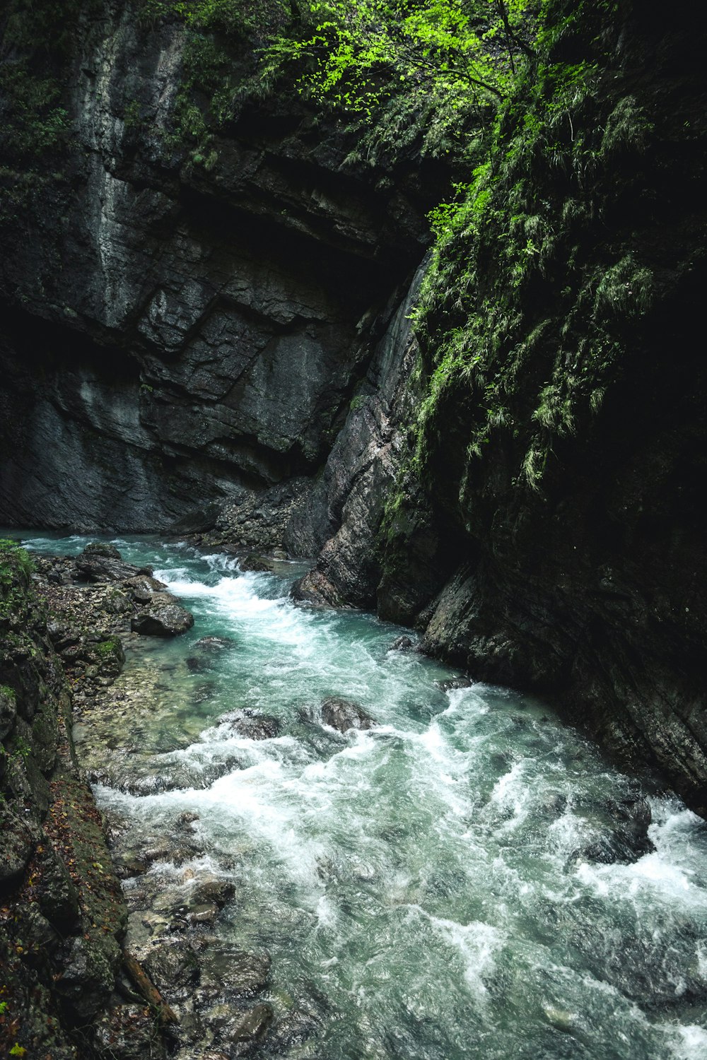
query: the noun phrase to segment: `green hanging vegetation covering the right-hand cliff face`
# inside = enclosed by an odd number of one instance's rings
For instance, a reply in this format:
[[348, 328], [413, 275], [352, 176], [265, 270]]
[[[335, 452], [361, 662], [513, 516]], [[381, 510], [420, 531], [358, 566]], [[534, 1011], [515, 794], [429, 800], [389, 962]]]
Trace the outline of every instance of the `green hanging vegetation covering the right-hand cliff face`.
[[617, 172], [617, 153], [640, 157], [651, 130], [608, 68], [614, 7], [544, 4], [537, 61], [499, 108], [481, 164], [430, 215], [414, 465], [434, 488], [456, 410], [462, 507], [500, 439], [516, 484], [541, 488], [556, 440], [586, 429], [652, 304], [637, 248], [604, 238], [598, 252], [586, 238], [636, 180], [633, 164]]

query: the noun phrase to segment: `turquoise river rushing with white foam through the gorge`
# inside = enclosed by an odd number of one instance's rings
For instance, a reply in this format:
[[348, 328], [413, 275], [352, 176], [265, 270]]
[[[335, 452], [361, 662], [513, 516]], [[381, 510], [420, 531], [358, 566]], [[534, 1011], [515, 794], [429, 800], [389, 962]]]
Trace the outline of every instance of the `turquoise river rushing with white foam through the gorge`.
[[[64, 553], [85, 543], [25, 538]], [[707, 829], [677, 799], [650, 796], [652, 852], [597, 862], [606, 808], [635, 798], [636, 781], [543, 704], [441, 690], [457, 671], [391, 650], [404, 631], [290, 602], [293, 565], [241, 573], [184, 545], [116, 544], [196, 623], [170, 643], [145, 638], [118, 683], [142, 672], [152, 689], [135, 717], [128, 697], [113, 745], [157, 787], [128, 794], [108, 777], [99, 802], [136, 834], [198, 813], [193, 867], [236, 884], [219, 931], [270, 952], [278, 1013], [317, 1013], [291, 1056], [707, 1056]], [[233, 643], [195, 670], [207, 635]], [[377, 727], [323, 726], [331, 695]], [[244, 707], [277, 717], [279, 735], [235, 734], [228, 714]], [[179, 787], [158, 790], [165, 778]], [[189, 885], [183, 865], [151, 872]]]

